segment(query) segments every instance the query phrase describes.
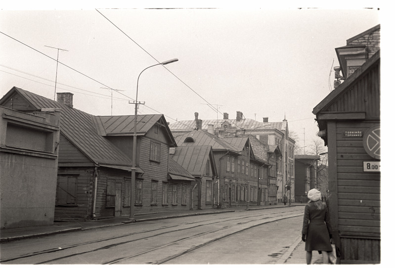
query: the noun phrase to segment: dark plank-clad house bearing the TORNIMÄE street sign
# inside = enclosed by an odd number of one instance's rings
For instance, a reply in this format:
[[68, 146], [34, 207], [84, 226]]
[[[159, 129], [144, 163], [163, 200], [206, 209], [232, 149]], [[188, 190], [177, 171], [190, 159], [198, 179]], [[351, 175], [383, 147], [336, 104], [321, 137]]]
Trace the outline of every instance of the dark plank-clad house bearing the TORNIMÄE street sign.
[[380, 25], [336, 49], [344, 81], [312, 111], [328, 146], [328, 202], [341, 264], [381, 259], [379, 44]]

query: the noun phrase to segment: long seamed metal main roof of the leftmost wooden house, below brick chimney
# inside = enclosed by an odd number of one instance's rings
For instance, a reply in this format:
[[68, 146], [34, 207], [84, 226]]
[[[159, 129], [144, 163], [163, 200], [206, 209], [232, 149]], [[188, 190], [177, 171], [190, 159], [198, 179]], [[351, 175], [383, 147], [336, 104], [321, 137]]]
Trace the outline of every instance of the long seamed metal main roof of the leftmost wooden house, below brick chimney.
[[[88, 159], [94, 163], [107, 165], [131, 166], [131, 159], [110, 141], [98, 135], [94, 116], [81, 110], [68, 107], [29, 91], [13, 87], [0, 100], [0, 105], [12, 96], [21, 96], [30, 107], [24, 110], [41, 110], [42, 108], [60, 108], [60, 131]], [[22, 107], [20, 107], [22, 109]], [[17, 107], [14, 107], [17, 109]]]

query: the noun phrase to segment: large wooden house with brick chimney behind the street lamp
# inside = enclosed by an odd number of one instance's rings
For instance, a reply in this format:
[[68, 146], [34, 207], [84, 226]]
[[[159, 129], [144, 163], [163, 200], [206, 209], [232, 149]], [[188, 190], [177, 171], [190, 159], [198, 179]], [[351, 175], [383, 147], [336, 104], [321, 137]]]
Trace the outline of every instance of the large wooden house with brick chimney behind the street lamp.
[[[134, 116], [94, 116], [73, 108], [72, 96], [58, 94], [55, 102], [14, 87], [0, 105], [25, 112], [61, 110], [55, 220], [128, 216]], [[188, 210], [188, 200], [182, 202], [185, 206], [163, 203], [184, 192], [181, 181], [169, 173], [169, 148], [176, 143], [166, 119], [138, 115], [137, 122], [135, 214]]]

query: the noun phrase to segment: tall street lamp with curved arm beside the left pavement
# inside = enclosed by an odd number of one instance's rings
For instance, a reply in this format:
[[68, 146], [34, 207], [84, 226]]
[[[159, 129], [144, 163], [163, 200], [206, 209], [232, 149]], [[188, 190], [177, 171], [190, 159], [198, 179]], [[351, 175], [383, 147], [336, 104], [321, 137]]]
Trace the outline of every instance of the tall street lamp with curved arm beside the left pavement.
[[140, 78], [140, 75], [142, 74], [143, 71], [145, 71], [148, 68], [151, 68], [153, 66], [156, 65], [166, 65], [169, 63], [173, 63], [178, 61], [178, 58], [173, 58], [173, 59], [169, 59], [166, 61], [163, 61], [161, 63], [157, 63], [151, 66], [148, 66], [147, 68], [145, 68], [144, 70], [142, 70], [140, 72], [140, 74], [137, 77], [137, 86], [136, 86], [136, 100], [134, 102], [134, 131], [133, 131], [133, 148], [132, 148], [132, 181], [131, 181], [131, 211], [130, 211], [130, 215], [129, 215], [129, 219], [132, 221], [135, 221], [134, 219], [134, 188], [135, 188], [135, 181], [136, 181], [136, 146], [137, 146], [137, 106], [138, 106], [138, 102], [137, 102], [137, 94], [138, 94], [138, 79]]

